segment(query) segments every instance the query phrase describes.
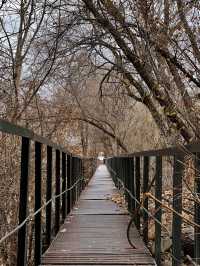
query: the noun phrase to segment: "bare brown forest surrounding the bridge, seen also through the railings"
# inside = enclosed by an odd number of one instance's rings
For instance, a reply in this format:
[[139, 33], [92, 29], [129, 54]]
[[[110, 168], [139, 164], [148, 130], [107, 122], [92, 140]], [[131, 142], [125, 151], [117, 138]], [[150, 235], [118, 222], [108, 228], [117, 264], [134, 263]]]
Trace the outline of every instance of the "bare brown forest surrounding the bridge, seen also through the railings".
[[[1, 0], [0, 119], [88, 160], [100, 152], [122, 156], [198, 142], [200, 2]], [[20, 138], [0, 132], [0, 239], [18, 222], [19, 153]], [[193, 220], [200, 200], [194, 192], [198, 171], [191, 154], [182, 164], [183, 207], [190, 210], [182, 215]], [[165, 158], [163, 196], [168, 201], [171, 166], [172, 158]], [[153, 180], [154, 162], [150, 169]], [[86, 175], [92, 175], [91, 169]], [[30, 210], [33, 185], [31, 167]], [[163, 214], [165, 227], [170, 215]], [[27, 265], [33, 265], [33, 224]], [[150, 227], [153, 243], [155, 229]], [[183, 238], [190, 249], [192, 225], [184, 223]], [[166, 266], [171, 265], [170, 247], [164, 235]], [[193, 256], [187, 250], [180, 265], [198, 265], [200, 259], [195, 262]], [[16, 265], [16, 235], [0, 244], [0, 265]]]

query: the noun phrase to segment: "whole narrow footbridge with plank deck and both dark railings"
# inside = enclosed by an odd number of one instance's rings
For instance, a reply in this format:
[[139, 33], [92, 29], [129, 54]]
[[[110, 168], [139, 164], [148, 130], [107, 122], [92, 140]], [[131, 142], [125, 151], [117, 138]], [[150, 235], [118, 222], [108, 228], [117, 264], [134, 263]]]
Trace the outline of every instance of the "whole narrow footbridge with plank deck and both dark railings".
[[[34, 220], [34, 264], [64, 265], [162, 265], [162, 170], [163, 159], [173, 158], [172, 265], [181, 265], [182, 177], [185, 154], [193, 155], [200, 170], [200, 144], [144, 151], [106, 158], [94, 169], [86, 184], [84, 158], [34, 134], [32, 131], [0, 121], [0, 131], [21, 138], [18, 225], [0, 239], [0, 244], [17, 234], [16, 265], [28, 265], [27, 224]], [[30, 149], [30, 146], [34, 149]], [[46, 176], [42, 172], [45, 147]], [[35, 182], [33, 213], [28, 213], [28, 183], [31, 153], [34, 152]], [[155, 176], [150, 180], [150, 159], [155, 159]], [[96, 159], [93, 159], [95, 162]], [[53, 175], [54, 180], [53, 182]], [[45, 203], [42, 204], [42, 179]], [[195, 191], [200, 193], [196, 177]], [[149, 193], [154, 186], [154, 196]], [[53, 188], [55, 186], [55, 188]], [[113, 202], [123, 189], [127, 208]], [[149, 212], [149, 197], [155, 200], [155, 214]], [[200, 258], [200, 207], [194, 203], [194, 257]], [[45, 212], [45, 221], [41, 212]], [[155, 221], [155, 254], [148, 249], [148, 221]], [[184, 221], [185, 222], [185, 221]], [[42, 234], [44, 224], [45, 234]]]

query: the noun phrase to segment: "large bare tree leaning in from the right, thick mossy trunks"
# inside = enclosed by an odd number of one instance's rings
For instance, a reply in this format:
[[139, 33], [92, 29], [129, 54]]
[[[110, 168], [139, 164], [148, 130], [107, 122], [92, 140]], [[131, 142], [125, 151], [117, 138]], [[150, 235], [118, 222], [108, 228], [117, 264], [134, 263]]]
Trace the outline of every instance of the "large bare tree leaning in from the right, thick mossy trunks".
[[113, 72], [120, 75], [124, 89], [147, 106], [169, 143], [199, 138], [194, 114], [200, 87], [199, 4], [83, 0], [76, 12], [85, 27], [74, 45], [87, 47], [96, 67], [106, 71], [102, 83]]

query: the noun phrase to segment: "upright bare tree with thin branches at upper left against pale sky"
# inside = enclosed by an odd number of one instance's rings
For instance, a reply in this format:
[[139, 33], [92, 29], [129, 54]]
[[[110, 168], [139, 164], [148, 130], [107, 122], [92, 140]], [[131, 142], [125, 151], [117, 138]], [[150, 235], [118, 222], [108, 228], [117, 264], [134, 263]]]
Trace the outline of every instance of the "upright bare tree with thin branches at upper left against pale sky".
[[70, 30], [61, 21], [62, 0], [13, 3], [0, 10], [1, 98], [4, 116], [17, 122], [39, 90], [47, 86], [63, 50], [63, 37]]

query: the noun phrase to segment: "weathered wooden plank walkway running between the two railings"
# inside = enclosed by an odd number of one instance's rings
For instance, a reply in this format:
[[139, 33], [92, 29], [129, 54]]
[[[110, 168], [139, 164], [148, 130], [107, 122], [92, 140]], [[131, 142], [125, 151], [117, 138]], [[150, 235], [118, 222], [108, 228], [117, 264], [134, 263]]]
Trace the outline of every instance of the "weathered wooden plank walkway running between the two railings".
[[126, 239], [129, 216], [111, 197], [117, 190], [100, 165], [77, 206], [42, 257], [42, 265], [156, 265], [133, 228], [134, 250]]

